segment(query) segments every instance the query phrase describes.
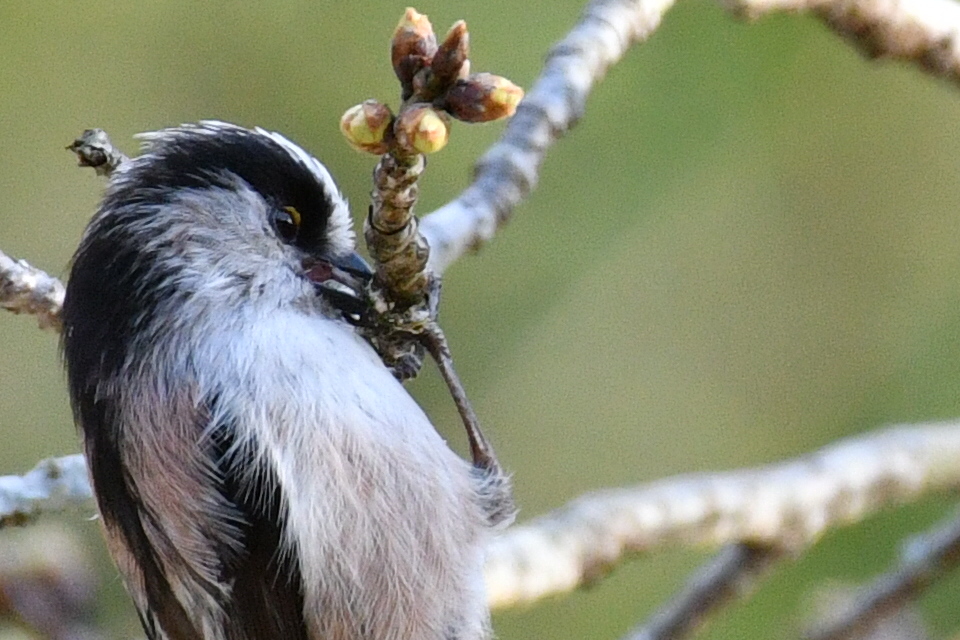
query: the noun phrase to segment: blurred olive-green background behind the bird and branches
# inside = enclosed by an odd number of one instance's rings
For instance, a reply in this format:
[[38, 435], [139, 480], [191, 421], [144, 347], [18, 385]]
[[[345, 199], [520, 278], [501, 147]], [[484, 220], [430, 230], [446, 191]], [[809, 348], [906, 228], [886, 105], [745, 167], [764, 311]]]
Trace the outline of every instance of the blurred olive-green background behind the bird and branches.
[[[423, 0], [458, 18], [474, 68], [529, 86], [580, 0]], [[358, 213], [371, 157], [337, 119], [395, 102], [388, 38], [404, 3], [59, 0], [0, 3], [0, 248], [63, 275], [102, 182], [63, 147], [107, 129], [218, 118], [281, 131], [338, 176]], [[539, 189], [447, 274], [443, 323], [506, 465], [521, 519], [591, 489], [756, 465], [900, 421], [960, 415], [960, 93], [868, 62], [807, 17], [737, 22], [681, 2], [590, 99]], [[457, 126], [421, 212], [467, 184], [499, 125]], [[463, 436], [437, 378], [411, 391]], [[57, 339], [0, 317], [0, 474], [78, 450]], [[948, 512], [930, 499], [829, 535], [706, 637], [794, 635], [810, 595], [891, 562]], [[97, 525], [100, 616], [139, 629]], [[48, 519], [54, 520], [54, 519]], [[6, 536], [8, 534], [0, 534]], [[615, 638], [705, 552], [496, 617], [499, 638]], [[922, 601], [960, 627], [960, 580]]]

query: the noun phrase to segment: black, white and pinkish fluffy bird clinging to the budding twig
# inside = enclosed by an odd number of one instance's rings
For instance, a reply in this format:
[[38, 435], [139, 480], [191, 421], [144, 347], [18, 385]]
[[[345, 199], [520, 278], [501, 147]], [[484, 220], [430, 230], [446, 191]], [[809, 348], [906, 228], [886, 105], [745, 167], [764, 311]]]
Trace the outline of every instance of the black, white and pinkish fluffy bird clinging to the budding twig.
[[260, 128], [140, 138], [72, 260], [62, 352], [147, 637], [488, 638], [484, 479], [358, 334], [343, 291], [370, 272], [330, 172]]

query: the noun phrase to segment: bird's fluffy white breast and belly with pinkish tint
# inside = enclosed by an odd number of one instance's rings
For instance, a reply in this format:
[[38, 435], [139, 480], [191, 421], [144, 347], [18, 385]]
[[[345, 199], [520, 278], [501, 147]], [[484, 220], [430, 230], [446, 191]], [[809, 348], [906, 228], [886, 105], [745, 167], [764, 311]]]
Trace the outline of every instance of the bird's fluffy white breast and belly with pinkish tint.
[[250, 313], [195, 357], [238, 441], [277, 473], [315, 637], [486, 637], [470, 466], [348, 325]]

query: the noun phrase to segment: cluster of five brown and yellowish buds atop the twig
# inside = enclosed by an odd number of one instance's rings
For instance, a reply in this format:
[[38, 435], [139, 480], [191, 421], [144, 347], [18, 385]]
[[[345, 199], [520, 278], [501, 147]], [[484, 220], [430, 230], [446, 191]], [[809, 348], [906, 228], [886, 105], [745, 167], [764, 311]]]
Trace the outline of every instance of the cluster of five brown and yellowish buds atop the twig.
[[378, 155], [434, 153], [449, 140], [451, 117], [490, 122], [512, 116], [523, 90], [501, 76], [471, 74], [469, 43], [463, 20], [438, 44], [427, 16], [408, 8], [390, 48], [403, 105], [396, 116], [376, 100], [350, 108], [340, 119], [350, 145]]

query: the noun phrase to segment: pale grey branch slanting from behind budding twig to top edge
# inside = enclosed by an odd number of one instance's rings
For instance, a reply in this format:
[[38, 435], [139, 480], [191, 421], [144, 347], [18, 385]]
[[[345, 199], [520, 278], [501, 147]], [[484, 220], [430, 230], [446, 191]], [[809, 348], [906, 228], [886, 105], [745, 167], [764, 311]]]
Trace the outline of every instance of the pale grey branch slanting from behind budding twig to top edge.
[[673, 0], [594, 0], [587, 6], [547, 53], [540, 77], [503, 137], [477, 162], [473, 184], [422, 220], [428, 269], [442, 273], [493, 238], [536, 187], [547, 150], [583, 115], [593, 87], [634, 43], [656, 30], [672, 5]]

